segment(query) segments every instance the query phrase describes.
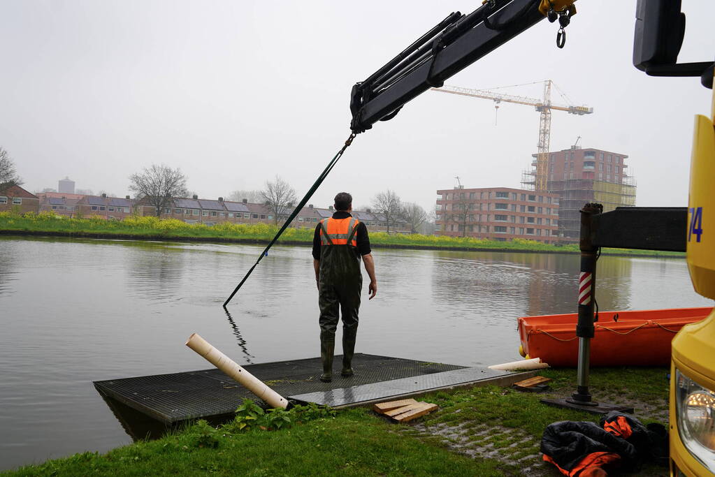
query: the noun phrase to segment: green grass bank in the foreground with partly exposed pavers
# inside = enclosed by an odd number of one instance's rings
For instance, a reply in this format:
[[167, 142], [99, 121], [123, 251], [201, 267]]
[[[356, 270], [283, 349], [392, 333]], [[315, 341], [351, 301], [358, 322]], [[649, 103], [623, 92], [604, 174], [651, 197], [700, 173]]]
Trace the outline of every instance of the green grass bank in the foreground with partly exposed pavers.
[[[666, 424], [667, 371], [594, 368], [592, 391], [598, 400], [633, 406], [644, 423]], [[541, 374], [553, 378], [549, 396], [573, 391], [575, 370]], [[546, 406], [542, 397], [495, 386], [463, 388], [424, 396], [440, 408], [417, 423], [388, 423], [355, 408], [315, 413], [278, 431], [240, 430], [247, 419], [242, 413], [218, 429], [199, 422], [157, 441], [104, 455], [75, 454], [6, 475], [558, 476], [538, 454], [543, 429], [555, 421], [597, 422], [598, 416]], [[649, 464], [639, 475], [667, 473]]]

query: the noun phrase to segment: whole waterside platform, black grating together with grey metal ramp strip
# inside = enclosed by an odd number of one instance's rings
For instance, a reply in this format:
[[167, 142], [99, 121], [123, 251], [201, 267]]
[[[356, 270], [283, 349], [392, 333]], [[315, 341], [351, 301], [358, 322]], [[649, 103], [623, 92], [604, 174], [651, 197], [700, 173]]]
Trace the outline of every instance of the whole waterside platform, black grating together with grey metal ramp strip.
[[[342, 356], [335, 356], [335, 363], [341, 360]], [[523, 378], [523, 373], [363, 353], [355, 353], [353, 358], [355, 376], [342, 378], [337, 371], [332, 383], [322, 383], [318, 379], [320, 358], [244, 367], [286, 398], [334, 407], [355, 406], [382, 398], [425, 393], [506, 376], [510, 376], [511, 381]], [[94, 381], [94, 387], [105, 398], [116, 400], [168, 425], [197, 418], [228, 417], [245, 398], [257, 399], [216, 368]]]

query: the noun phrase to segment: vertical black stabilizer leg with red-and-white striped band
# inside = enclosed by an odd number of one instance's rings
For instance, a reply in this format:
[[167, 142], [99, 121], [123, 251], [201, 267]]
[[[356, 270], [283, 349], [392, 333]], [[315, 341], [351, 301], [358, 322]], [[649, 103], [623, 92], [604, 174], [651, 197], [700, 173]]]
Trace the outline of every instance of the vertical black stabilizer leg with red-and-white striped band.
[[576, 393], [566, 401], [581, 406], [598, 406], [588, 392], [588, 371], [591, 364], [591, 338], [593, 338], [593, 296], [596, 293], [596, 259], [598, 247], [593, 246], [593, 216], [601, 214], [601, 204], [586, 204], [581, 209], [581, 273], [578, 274], [578, 378]]

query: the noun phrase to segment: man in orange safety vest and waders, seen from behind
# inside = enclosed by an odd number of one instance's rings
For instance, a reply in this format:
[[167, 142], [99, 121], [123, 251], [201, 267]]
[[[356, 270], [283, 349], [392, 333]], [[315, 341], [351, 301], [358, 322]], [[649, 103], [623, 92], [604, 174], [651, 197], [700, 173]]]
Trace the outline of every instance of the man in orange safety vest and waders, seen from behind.
[[335, 351], [335, 330], [338, 310], [342, 309], [342, 371], [340, 376], [352, 376], [352, 355], [358, 334], [358, 311], [363, 275], [360, 260], [370, 276], [370, 300], [378, 293], [375, 262], [365, 224], [355, 219], [352, 196], [340, 192], [335, 196], [335, 214], [320, 221], [313, 238], [313, 267], [320, 306], [320, 381], [332, 381], [332, 356]]

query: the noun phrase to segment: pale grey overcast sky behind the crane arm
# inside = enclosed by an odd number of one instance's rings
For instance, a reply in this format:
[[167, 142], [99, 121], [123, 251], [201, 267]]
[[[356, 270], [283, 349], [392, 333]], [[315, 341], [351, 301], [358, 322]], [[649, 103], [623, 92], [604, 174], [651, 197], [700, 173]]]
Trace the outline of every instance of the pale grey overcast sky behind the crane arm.
[[[450, 11], [479, 1], [0, 0], [0, 146], [26, 189], [129, 194], [152, 163], [179, 167], [204, 198], [260, 189], [276, 174], [305, 194], [349, 134], [350, 89]], [[635, 0], [576, 3], [566, 48], [542, 21], [446, 84], [488, 89], [553, 79], [590, 116], [554, 111], [551, 150], [629, 156], [637, 205], [687, 203], [694, 114], [711, 91], [631, 64]], [[679, 61], [715, 51], [715, 2], [685, 0]], [[541, 96], [541, 86], [500, 91]], [[553, 101], [563, 103], [558, 94]], [[312, 199], [385, 189], [433, 209], [455, 176], [518, 187], [536, 152], [531, 106], [425, 93], [360, 134]]]

